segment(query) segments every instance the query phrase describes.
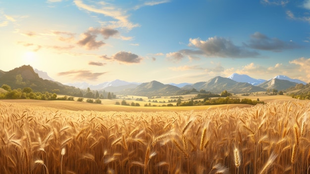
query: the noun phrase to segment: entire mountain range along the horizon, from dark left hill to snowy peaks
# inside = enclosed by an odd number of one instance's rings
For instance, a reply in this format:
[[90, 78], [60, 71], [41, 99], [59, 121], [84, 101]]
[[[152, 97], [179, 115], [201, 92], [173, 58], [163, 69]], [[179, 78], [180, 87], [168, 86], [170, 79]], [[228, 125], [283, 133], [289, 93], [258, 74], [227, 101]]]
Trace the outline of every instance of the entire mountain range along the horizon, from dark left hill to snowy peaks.
[[[21, 75], [22, 81], [17, 81], [17, 75]], [[47, 80], [48, 79], [48, 80]], [[18, 82], [18, 83], [17, 83]], [[278, 75], [269, 80], [255, 79], [248, 75], [240, 75], [233, 73], [229, 77], [217, 76], [208, 81], [197, 82], [194, 84], [163, 84], [158, 81], [147, 83], [126, 82], [123, 80], [114, 80], [111, 82], [103, 82], [98, 85], [90, 85], [88, 83], [72, 83], [61, 84], [55, 82], [46, 72], [33, 69], [31, 66], [23, 65], [8, 72], [0, 70], [0, 86], [8, 84], [15, 88], [23, 88], [28, 85], [35, 91], [53, 91], [58, 89], [61, 94], [76, 94], [80, 89], [90, 88], [91, 90], [114, 92], [124, 95], [138, 96], [169, 96], [182, 95], [189, 93], [190, 90], [206, 90], [212, 93], [221, 93], [227, 90], [230, 93], [250, 93], [258, 91], [266, 91], [268, 89], [285, 90], [296, 86], [296, 84], [307, 84], [298, 79], [291, 79], [285, 75]]]

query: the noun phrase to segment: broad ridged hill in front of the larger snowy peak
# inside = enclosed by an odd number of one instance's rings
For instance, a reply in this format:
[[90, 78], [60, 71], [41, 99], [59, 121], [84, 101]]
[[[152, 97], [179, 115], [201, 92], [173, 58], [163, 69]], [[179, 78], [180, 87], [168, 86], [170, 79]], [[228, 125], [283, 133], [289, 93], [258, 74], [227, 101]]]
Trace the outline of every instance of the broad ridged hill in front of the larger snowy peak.
[[224, 90], [227, 90], [230, 93], [249, 93], [249, 92], [258, 92], [265, 91], [265, 89], [258, 86], [251, 85], [246, 82], [236, 82], [230, 78], [224, 77], [214, 77], [207, 82], [198, 82], [193, 85], [186, 85], [182, 89], [192, 89], [200, 91], [204, 89], [212, 93], [221, 93]]

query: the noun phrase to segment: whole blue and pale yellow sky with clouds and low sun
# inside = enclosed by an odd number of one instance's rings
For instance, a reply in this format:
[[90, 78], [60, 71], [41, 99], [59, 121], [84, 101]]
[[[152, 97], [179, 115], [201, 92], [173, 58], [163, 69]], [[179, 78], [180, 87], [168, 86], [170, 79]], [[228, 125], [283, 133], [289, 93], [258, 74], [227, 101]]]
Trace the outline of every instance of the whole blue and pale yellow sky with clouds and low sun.
[[310, 82], [310, 0], [0, 0], [0, 69], [61, 83]]

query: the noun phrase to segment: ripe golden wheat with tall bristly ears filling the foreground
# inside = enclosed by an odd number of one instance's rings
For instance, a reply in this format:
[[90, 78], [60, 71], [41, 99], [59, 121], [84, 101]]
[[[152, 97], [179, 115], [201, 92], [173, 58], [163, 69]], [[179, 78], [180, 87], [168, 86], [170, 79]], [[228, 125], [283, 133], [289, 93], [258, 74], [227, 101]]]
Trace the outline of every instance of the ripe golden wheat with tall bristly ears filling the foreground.
[[310, 103], [96, 112], [0, 102], [0, 174], [309, 174]]

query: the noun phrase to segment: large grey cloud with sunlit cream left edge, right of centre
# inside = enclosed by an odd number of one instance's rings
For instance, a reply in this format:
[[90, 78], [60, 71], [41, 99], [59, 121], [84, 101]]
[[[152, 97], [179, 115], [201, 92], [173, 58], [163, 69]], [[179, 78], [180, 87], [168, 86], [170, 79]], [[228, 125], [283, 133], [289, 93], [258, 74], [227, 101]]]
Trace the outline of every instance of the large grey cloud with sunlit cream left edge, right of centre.
[[206, 41], [200, 38], [190, 39], [189, 46], [199, 50], [187, 50], [188, 54], [203, 54], [205, 57], [218, 58], [254, 58], [259, 54], [244, 47], [236, 46], [232, 41], [221, 37], [211, 37]]

